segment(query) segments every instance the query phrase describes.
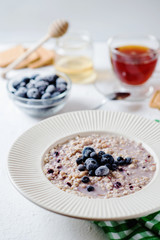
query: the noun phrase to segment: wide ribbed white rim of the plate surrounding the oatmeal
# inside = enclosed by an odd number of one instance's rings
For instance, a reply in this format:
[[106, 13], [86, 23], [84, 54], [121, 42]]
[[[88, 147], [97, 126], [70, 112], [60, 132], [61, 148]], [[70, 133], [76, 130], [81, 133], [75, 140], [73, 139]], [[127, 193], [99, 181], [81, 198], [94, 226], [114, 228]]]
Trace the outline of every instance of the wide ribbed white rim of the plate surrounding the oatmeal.
[[[54, 186], [42, 171], [42, 156], [55, 142], [91, 132], [108, 132], [142, 142], [154, 156], [157, 170], [142, 190], [120, 198], [89, 199]], [[80, 111], [38, 123], [13, 144], [8, 159], [16, 188], [35, 204], [66, 216], [91, 220], [137, 218], [160, 209], [160, 124], [122, 112]]]

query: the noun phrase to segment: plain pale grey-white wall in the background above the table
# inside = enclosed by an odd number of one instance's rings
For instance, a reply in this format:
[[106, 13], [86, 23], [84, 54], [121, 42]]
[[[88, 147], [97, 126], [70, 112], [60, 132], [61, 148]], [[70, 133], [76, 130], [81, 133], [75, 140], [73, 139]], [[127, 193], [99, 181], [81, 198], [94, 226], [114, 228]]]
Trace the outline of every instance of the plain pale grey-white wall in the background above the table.
[[35, 40], [56, 18], [94, 40], [132, 32], [160, 37], [160, 0], [0, 0], [0, 42]]

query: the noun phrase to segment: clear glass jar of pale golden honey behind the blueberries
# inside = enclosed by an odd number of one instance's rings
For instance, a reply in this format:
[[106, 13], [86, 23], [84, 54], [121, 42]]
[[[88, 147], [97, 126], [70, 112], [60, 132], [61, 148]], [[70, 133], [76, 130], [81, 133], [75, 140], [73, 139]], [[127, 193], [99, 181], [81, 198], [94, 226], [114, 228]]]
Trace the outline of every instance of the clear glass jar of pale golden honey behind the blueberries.
[[86, 31], [68, 32], [56, 41], [55, 68], [73, 82], [91, 83], [96, 79], [93, 47]]

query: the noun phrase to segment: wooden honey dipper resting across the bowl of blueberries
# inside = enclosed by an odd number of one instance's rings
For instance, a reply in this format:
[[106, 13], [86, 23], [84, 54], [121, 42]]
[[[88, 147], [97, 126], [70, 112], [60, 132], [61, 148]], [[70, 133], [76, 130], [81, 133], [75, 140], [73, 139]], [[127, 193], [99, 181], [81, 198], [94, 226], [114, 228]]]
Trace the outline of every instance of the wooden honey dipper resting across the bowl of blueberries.
[[2, 72], [2, 77], [5, 78], [6, 74], [14, 69], [19, 63], [21, 63], [24, 59], [26, 59], [31, 53], [33, 53], [37, 48], [39, 48], [43, 43], [48, 41], [50, 38], [59, 38], [67, 32], [68, 22], [65, 20], [56, 20], [52, 23], [52, 25], [48, 29], [47, 35], [45, 35], [42, 39], [39, 40], [34, 46], [29, 48], [24, 54], [22, 54], [19, 58], [17, 58], [14, 62], [9, 64], [5, 70]]

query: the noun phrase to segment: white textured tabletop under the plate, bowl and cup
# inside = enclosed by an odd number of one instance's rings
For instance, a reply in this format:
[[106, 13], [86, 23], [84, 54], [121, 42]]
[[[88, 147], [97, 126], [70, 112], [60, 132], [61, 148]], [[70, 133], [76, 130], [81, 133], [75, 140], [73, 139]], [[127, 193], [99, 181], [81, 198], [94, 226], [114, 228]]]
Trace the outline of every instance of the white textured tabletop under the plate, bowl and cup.
[[[4, 49], [6, 46], [0, 46]], [[105, 80], [108, 89], [112, 85], [112, 75], [104, 43], [94, 44], [95, 66], [99, 69], [99, 83]], [[23, 70], [20, 72], [27, 72]], [[52, 71], [46, 67], [38, 71]], [[37, 72], [37, 71], [36, 71]], [[17, 73], [17, 72], [16, 72]], [[13, 71], [10, 76], [13, 76]], [[110, 78], [111, 76], [111, 78]], [[160, 77], [153, 82], [160, 87]], [[160, 76], [160, 74], [159, 74]], [[108, 81], [108, 82], [107, 82]], [[158, 83], [159, 82], [159, 83]], [[73, 84], [71, 96], [60, 113], [91, 109], [104, 97], [93, 84]], [[150, 119], [160, 119], [160, 112], [151, 109], [149, 100], [141, 103], [110, 102], [103, 109], [140, 114]], [[39, 119], [31, 118], [17, 109], [7, 96], [6, 80], [0, 79], [0, 239], [1, 240], [104, 240], [103, 231], [89, 221], [72, 219], [48, 212], [25, 199], [12, 186], [7, 174], [7, 155], [15, 139], [25, 130], [36, 124]]]

